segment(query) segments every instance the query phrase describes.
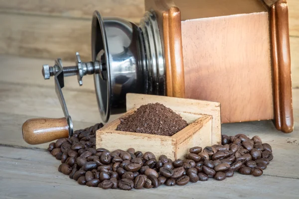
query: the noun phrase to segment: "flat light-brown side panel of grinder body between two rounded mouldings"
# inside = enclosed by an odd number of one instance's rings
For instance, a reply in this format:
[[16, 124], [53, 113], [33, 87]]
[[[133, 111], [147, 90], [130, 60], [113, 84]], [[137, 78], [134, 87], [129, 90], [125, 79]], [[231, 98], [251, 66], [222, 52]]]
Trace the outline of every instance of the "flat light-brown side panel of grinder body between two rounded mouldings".
[[268, 17], [258, 12], [183, 21], [186, 98], [219, 101], [223, 123], [273, 119]]

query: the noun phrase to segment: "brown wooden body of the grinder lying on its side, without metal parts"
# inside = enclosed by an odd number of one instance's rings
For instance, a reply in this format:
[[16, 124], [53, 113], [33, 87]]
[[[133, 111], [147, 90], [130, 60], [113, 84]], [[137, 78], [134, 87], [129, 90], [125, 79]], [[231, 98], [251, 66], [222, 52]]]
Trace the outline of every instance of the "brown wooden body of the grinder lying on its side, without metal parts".
[[222, 123], [274, 119], [293, 131], [286, 0], [146, 0], [156, 13], [166, 95], [219, 101]]

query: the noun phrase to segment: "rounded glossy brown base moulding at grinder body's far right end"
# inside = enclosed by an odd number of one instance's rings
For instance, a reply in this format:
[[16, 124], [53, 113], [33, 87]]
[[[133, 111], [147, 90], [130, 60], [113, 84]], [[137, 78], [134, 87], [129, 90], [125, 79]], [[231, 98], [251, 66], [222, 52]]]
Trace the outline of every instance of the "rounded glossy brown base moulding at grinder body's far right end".
[[292, 132], [294, 127], [288, 16], [286, 0], [279, 0], [272, 5], [271, 38], [275, 126], [285, 133]]

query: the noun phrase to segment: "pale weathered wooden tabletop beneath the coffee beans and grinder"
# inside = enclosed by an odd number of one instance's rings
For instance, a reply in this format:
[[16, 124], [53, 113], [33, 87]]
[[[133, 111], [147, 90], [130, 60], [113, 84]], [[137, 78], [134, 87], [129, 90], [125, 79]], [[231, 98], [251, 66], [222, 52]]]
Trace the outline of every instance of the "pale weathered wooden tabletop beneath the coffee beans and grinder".
[[[259, 135], [272, 145], [274, 159], [261, 177], [235, 173], [224, 181], [189, 183], [187, 186], [134, 191], [102, 190], [78, 185], [59, 173], [60, 161], [45, 150], [48, 144], [31, 146], [22, 139], [22, 123], [34, 117], [62, 117], [54, 81], [43, 80], [39, 60], [0, 55], [0, 198], [261, 198], [294, 199], [299, 196], [299, 89], [293, 89], [295, 130], [284, 134], [272, 121], [223, 124], [222, 133]], [[69, 63], [64, 63], [69, 64]], [[296, 87], [295, 87], [296, 88]], [[70, 77], [63, 89], [75, 129], [101, 122], [93, 78], [84, 77], [79, 88]], [[113, 118], [118, 117], [114, 115]], [[113, 119], [112, 118], [112, 119]], [[288, 143], [290, 141], [291, 143]]]

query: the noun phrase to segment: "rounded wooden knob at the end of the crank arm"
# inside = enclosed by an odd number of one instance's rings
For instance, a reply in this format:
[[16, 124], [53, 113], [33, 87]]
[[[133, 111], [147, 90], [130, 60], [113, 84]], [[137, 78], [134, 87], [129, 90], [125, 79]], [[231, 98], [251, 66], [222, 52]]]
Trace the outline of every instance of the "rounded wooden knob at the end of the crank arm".
[[28, 144], [42, 144], [69, 136], [69, 125], [62, 118], [28, 119], [22, 125], [23, 139]]

